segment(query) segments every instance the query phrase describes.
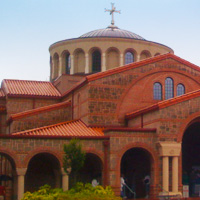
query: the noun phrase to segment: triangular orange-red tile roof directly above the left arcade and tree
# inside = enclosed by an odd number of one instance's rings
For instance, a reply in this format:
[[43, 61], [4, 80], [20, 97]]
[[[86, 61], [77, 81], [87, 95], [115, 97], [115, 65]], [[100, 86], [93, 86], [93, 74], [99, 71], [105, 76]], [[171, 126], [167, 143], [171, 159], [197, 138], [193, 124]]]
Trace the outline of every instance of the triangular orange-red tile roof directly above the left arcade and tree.
[[103, 137], [103, 128], [88, 127], [81, 120], [63, 122], [41, 128], [13, 133], [15, 136], [70, 136], [70, 137]]

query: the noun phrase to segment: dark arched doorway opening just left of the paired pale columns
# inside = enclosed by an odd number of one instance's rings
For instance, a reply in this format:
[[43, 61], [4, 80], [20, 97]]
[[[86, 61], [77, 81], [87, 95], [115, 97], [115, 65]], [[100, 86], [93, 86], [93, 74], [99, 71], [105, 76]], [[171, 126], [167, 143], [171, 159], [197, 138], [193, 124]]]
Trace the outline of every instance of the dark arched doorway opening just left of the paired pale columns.
[[[142, 148], [132, 148], [126, 151], [121, 160], [121, 176], [124, 176], [128, 187], [136, 193], [136, 198], [146, 197], [148, 191], [144, 179], [146, 176], [151, 177], [150, 154]], [[127, 188], [125, 193], [128, 198], [133, 197]]]

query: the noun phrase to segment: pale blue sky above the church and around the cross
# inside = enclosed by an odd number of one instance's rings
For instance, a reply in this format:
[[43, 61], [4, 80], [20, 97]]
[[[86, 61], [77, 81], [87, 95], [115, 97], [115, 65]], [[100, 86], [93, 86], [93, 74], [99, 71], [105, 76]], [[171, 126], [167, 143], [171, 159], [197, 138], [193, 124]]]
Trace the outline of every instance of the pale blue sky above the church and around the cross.
[[49, 46], [115, 25], [200, 66], [200, 0], [0, 0], [0, 81], [49, 80]]

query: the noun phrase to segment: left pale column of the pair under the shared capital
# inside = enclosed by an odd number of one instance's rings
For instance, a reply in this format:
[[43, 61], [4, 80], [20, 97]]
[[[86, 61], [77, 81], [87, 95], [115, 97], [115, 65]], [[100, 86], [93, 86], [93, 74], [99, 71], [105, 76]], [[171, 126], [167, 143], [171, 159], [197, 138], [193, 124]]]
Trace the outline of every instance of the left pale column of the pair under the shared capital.
[[168, 192], [169, 191], [169, 157], [163, 156], [162, 160], [163, 160], [162, 187], [163, 187], [163, 192]]

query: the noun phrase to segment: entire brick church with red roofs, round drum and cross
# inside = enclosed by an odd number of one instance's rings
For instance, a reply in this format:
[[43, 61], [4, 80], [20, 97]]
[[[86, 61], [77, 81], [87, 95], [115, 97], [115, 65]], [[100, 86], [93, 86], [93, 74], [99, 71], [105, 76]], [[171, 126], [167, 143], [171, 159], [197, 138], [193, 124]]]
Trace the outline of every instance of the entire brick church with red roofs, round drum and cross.
[[[119, 12], [112, 5], [110, 14]], [[63, 145], [86, 152], [79, 181], [120, 195], [196, 197], [200, 190], [200, 68], [163, 44], [115, 26], [49, 47], [50, 81], [4, 79], [0, 183], [20, 200], [44, 184], [70, 187]], [[127, 196], [131, 195], [127, 191]]]

